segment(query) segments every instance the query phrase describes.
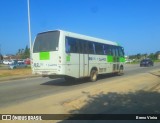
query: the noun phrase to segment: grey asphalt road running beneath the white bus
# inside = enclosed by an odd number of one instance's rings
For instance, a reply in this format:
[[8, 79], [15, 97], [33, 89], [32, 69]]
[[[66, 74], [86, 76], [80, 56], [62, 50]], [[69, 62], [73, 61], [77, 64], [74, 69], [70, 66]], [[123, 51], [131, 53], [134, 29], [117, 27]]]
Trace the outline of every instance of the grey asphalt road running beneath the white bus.
[[28, 78], [23, 80], [5, 81], [0, 83], [0, 108], [14, 104], [19, 104], [43, 96], [71, 91], [77, 88], [91, 86], [112, 80], [132, 76], [140, 73], [146, 73], [151, 70], [160, 69], [160, 63], [153, 67], [139, 67], [139, 65], [126, 65], [123, 76], [106, 75], [100, 76], [97, 82], [88, 82], [79, 80], [76, 82], [65, 82], [63, 79], [49, 78]]

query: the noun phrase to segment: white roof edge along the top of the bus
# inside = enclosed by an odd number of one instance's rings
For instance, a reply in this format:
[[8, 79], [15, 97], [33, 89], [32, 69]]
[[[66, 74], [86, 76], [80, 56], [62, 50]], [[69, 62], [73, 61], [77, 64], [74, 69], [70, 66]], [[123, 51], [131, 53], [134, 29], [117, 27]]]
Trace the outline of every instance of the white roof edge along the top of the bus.
[[[63, 33], [63, 35], [73, 37], [73, 38], [78, 38], [78, 39], [82, 39], [82, 40], [88, 40], [88, 41], [93, 41], [93, 42], [99, 42], [99, 43], [119, 46], [118, 43], [113, 42], [113, 41], [104, 40], [104, 39], [100, 39], [100, 38], [95, 38], [95, 37], [86, 36], [86, 35], [82, 35], [82, 34], [78, 34], [78, 33], [59, 30], [59, 29], [58, 30], [49, 30], [49, 31], [46, 31], [46, 32], [41, 32], [41, 33], [54, 32], [54, 31], [60, 31], [60, 33]], [[41, 33], [39, 33], [39, 34], [41, 34]]]

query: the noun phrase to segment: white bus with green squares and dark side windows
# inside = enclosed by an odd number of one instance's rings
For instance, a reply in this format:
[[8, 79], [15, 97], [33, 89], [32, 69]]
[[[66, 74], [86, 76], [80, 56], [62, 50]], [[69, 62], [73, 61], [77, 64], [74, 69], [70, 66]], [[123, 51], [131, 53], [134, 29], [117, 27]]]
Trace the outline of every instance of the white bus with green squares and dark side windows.
[[54, 30], [39, 33], [33, 44], [32, 72], [42, 76], [71, 78], [119, 73], [124, 70], [124, 50], [118, 43]]

